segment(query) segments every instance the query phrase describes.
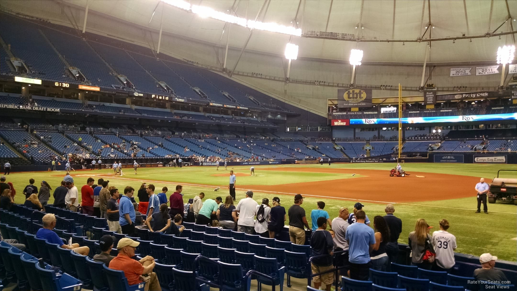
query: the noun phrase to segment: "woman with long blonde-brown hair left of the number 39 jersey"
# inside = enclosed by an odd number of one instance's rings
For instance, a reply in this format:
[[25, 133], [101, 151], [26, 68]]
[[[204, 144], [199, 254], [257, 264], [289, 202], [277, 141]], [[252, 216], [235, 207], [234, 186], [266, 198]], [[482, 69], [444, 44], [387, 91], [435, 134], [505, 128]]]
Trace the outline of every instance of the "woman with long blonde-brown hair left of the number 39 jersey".
[[425, 246], [431, 242], [431, 236], [429, 235], [429, 226], [425, 219], [419, 218], [415, 224], [415, 230], [409, 233], [408, 241], [409, 247], [412, 251], [411, 264], [418, 266], [419, 268], [430, 270], [432, 262], [422, 261], [422, 255], [425, 252]]

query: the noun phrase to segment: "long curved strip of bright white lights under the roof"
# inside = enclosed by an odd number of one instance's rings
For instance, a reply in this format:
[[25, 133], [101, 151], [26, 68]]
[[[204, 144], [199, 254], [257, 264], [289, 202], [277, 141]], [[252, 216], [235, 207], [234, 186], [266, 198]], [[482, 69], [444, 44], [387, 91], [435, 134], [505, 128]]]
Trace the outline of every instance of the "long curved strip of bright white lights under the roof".
[[273, 32], [273, 33], [301, 36], [301, 28], [295, 28], [293, 26], [285, 26], [282, 24], [274, 23], [274, 22], [261, 22], [261, 21], [254, 21], [251, 19], [241, 18], [241, 17], [234, 16], [232, 14], [229, 14], [229, 13], [216, 11], [210, 7], [200, 6], [200, 5], [191, 5], [190, 3], [183, 1], [183, 0], [161, 0], [161, 1], [163, 3], [169, 4], [171, 6], [190, 11], [201, 17], [217, 19], [217, 20], [221, 20], [224, 22], [237, 24], [240, 26], [265, 30], [268, 32]]

